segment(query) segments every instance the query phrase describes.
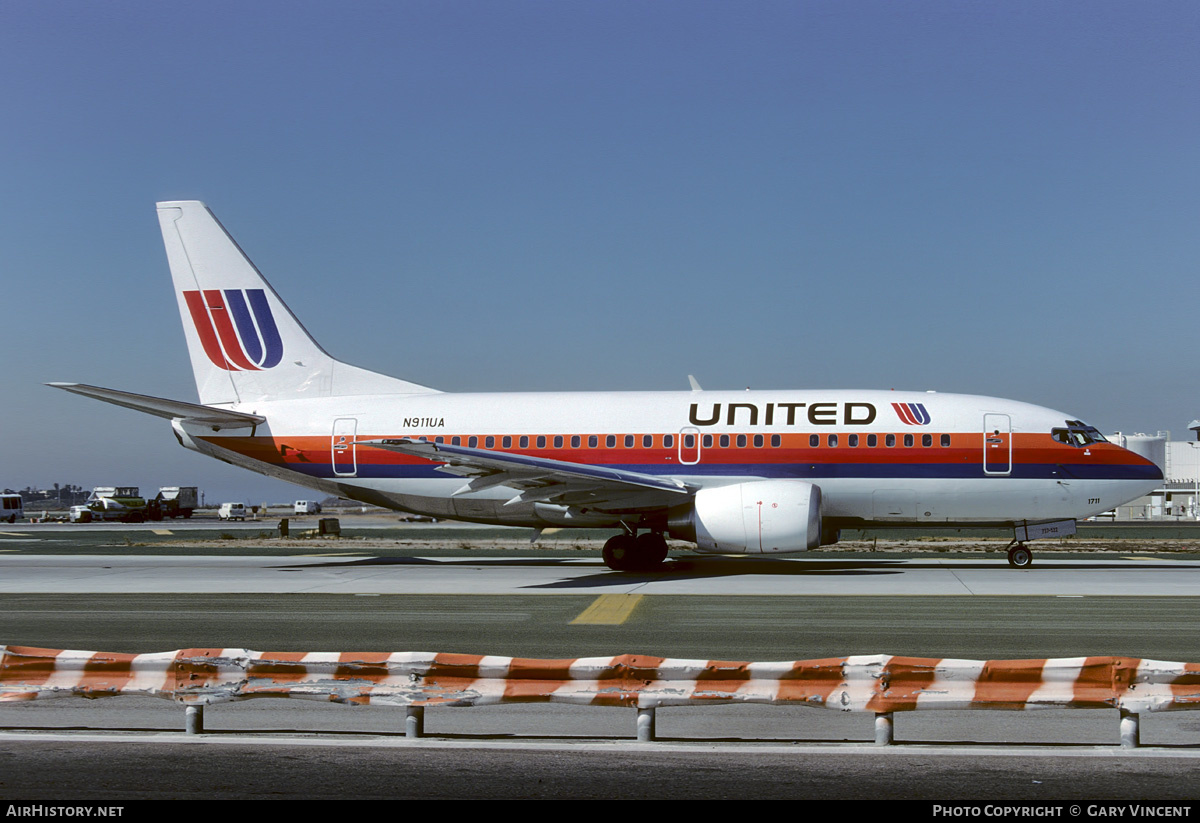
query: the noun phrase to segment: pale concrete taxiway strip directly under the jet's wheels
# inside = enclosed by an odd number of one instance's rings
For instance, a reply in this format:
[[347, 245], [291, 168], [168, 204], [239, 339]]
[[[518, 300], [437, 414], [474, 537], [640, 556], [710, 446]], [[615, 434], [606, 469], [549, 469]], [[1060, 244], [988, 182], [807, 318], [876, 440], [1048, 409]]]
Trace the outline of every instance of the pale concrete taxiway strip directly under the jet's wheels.
[[593, 557], [0, 554], [0, 593], [1200, 596], [1200, 561], [967, 558], [684, 558], [654, 573]]

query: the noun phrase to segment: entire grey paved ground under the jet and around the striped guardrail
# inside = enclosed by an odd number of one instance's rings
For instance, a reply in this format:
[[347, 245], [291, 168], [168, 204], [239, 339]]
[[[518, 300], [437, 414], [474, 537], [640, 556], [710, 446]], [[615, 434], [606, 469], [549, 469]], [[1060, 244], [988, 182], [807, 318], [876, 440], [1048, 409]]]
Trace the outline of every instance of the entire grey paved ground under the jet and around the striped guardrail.
[[[0, 643], [725, 660], [1200, 657], [1200, 561], [1186, 554], [1055, 554], [1039, 557], [1028, 570], [991, 555], [953, 553], [764, 561], [683, 557], [661, 573], [629, 576], [608, 571], [589, 551], [452, 545], [422, 553], [347, 541], [247, 555], [223, 542], [230, 541], [211, 540], [212, 553], [200, 554], [107, 527], [82, 536], [70, 529], [35, 536], [10, 529], [0, 534]], [[84, 553], [73, 553], [72, 543]], [[631, 595], [636, 603], [619, 621], [578, 621], [598, 599], [613, 594]], [[898, 745], [887, 752], [868, 745], [869, 715], [779, 707], [664, 710], [665, 741], [642, 747], [630, 743], [632, 713], [619, 709], [431, 710], [433, 739], [421, 741], [400, 735], [402, 713], [391, 709], [252, 701], [214, 707], [205, 720], [215, 733], [197, 741], [178, 735], [182, 711], [167, 701], [0, 704], [0, 761], [12, 767], [0, 769], [0, 794], [1178, 799], [1200, 793], [1194, 788], [1200, 713], [1146, 717], [1147, 747], [1135, 752], [1116, 747], [1111, 710], [898, 715]], [[66, 737], [46, 737], [55, 728]], [[212, 753], [214, 746], [223, 753]], [[150, 762], [164, 768], [148, 771]], [[427, 768], [442, 769], [445, 779], [434, 786], [403, 776]], [[343, 776], [331, 780], [330, 771]]]

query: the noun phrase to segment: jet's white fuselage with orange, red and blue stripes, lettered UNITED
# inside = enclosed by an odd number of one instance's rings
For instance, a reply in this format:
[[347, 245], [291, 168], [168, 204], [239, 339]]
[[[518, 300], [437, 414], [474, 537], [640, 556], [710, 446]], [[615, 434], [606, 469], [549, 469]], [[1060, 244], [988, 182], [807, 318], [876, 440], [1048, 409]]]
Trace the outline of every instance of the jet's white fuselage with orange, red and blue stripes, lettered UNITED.
[[580, 506], [510, 505], [514, 492], [504, 486], [456, 494], [462, 479], [434, 463], [359, 444], [457, 438], [456, 445], [617, 467], [694, 487], [804, 480], [820, 486], [822, 516], [846, 525], [1082, 518], [1148, 493], [1162, 479], [1152, 463], [1112, 444], [1054, 439], [1052, 429], [1078, 422], [1062, 413], [934, 392], [428, 394], [228, 408], [268, 422], [248, 438], [176, 423], [185, 443], [330, 494], [534, 527], [620, 518]]

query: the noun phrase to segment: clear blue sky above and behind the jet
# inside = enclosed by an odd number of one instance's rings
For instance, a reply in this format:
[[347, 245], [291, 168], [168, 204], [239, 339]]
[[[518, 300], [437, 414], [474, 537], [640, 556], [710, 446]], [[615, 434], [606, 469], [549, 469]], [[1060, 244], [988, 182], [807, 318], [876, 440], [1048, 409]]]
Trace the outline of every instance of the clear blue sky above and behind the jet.
[[1194, 2], [0, 0], [0, 486], [305, 493], [193, 400], [155, 200], [450, 391], [936, 389], [1200, 416]]

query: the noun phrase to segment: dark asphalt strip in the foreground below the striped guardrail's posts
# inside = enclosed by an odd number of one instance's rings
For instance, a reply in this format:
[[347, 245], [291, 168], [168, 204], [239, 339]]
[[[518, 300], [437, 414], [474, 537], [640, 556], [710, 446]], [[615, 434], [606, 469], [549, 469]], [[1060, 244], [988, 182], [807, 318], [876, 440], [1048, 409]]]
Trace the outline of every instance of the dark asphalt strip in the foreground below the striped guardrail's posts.
[[[922, 818], [931, 817], [932, 803], [1026, 804], [1042, 810], [1057, 806], [1054, 816], [1068, 819], [1076, 817], [1070, 804], [1081, 809], [1130, 801], [1188, 804], [1196, 797], [1198, 762], [1163, 752], [1063, 753], [1012, 746], [967, 752], [953, 746], [805, 745], [714, 751], [680, 744], [388, 746], [260, 738], [199, 744], [0, 739], [0, 761], [6, 764], [0, 771], [0, 797], [6, 803], [786, 798], [887, 800], [887, 806], [875, 807]], [[926, 803], [895, 806], [894, 800]]]

